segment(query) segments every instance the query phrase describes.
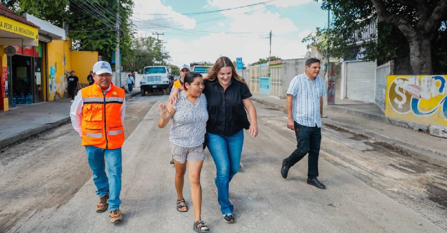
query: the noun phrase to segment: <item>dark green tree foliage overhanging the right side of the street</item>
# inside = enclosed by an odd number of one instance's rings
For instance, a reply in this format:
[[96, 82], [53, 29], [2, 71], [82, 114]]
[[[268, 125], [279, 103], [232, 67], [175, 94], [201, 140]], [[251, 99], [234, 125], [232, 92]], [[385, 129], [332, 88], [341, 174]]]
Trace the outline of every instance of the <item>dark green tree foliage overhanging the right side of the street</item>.
[[[315, 0], [318, 1], [318, 0]], [[396, 59], [409, 59], [409, 34], [404, 35], [398, 25], [405, 22], [397, 17], [408, 21], [405, 25], [413, 29], [415, 35], [422, 35], [420, 39], [431, 40], [432, 66], [434, 71], [447, 68], [447, 14], [436, 25], [432, 31], [424, 31], [422, 26], [432, 14], [440, 14], [445, 11], [433, 12], [434, 4], [439, 1], [432, 0], [384, 0], [378, 1], [384, 4], [384, 8], [390, 15], [382, 18], [383, 22], [377, 25], [377, 34], [373, 35], [376, 40], [362, 41], [355, 45], [360, 34], [365, 31], [365, 26], [376, 20], [378, 12], [372, 3], [373, 0], [321, 0], [322, 9], [330, 10], [330, 30], [319, 29], [305, 37], [302, 42], [308, 43], [308, 48], [314, 46], [319, 51], [325, 51], [329, 46], [329, 54], [333, 58], [351, 59], [358, 54], [360, 47], [366, 48], [363, 59], [377, 61], [378, 64]], [[423, 6], [429, 6], [426, 11], [421, 10]], [[386, 14], [386, 12], [385, 12]], [[442, 14], [442, 13], [441, 13]], [[439, 29], [439, 30], [438, 30]], [[438, 30], [438, 32], [436, 32]], [[433, 37], [433, 33], [435, 33]], [[329, 42], [326, 40], [329, 34]], [[432, 39], [433, 38], [433, 39]], [[427, 59], [427, 58], [417, 58]]]

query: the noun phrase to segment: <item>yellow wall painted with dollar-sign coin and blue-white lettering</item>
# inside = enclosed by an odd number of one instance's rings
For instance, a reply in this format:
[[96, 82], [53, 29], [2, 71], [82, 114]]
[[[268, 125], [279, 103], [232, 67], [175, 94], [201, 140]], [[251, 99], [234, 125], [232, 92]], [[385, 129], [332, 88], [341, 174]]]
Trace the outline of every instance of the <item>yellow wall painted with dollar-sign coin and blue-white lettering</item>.
[[447, 75], [388, 75], [385, 116], [447, 126]]

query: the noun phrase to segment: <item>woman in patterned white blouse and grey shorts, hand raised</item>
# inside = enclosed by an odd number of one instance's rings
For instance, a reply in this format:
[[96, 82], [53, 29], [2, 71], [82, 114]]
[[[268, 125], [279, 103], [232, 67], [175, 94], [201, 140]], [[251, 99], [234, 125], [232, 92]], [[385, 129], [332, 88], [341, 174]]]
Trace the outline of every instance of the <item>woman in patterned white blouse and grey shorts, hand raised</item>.
[[209, 227], [202, 221], [202, 171], [205, 151], [203, 143], [207, 133], [207, 98], [202, 93], [203, 78], [197, 72], [186, 74], [183, 79], [185, 91], [181, 92], [181, 101], [169, 102], [168, 106], [160, 104], [158, 127], [164, 128], [170, 119], [173, 120], [169, 141], [172, 157], [175, 160], [175, 189], [177, 190], [177, 211], [186, 212], [183, 185], [185, 183], [186, 161], [189, 167], [191, 183], [191, 199], [194, 205], [194, 225], [196, 232], [207, 232]]

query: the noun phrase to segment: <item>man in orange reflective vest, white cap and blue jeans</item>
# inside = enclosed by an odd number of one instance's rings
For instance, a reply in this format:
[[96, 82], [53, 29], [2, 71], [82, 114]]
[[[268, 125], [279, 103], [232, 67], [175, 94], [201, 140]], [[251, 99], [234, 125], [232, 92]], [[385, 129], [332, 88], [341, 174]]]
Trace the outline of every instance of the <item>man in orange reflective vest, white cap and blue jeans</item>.
[[[93, 66], [95, 84], [82, 88], [70, 109], [73, 128], [82, 137], [87, 160], [93, 171], [99, 203], [96, 212], [109, 208], [110, 221], [122, 221], [119, 210], [121, 200], [122, 151], [126, 116], [125, 92], [111, 82], [109, 62], [96, 62]], [[105, 173], [107, 165], [107, 177]]]

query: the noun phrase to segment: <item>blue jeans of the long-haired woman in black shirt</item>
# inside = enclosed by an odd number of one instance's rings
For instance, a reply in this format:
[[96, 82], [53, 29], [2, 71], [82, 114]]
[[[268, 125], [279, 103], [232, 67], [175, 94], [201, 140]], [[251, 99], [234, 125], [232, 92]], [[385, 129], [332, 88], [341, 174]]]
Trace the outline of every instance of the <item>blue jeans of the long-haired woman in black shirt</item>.
[[207, 133], [208, 150], [210, 150], [216, 165], [217, 201], [222, 215], [232, 213], [234, 206], [228, 200], [228, 185], [239, 171], [240, 154], [244, 144], [244, 131], [240, 130], [231, 136], [220, 136]]

